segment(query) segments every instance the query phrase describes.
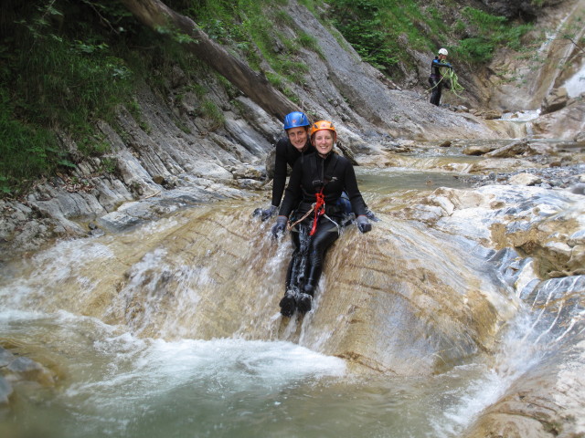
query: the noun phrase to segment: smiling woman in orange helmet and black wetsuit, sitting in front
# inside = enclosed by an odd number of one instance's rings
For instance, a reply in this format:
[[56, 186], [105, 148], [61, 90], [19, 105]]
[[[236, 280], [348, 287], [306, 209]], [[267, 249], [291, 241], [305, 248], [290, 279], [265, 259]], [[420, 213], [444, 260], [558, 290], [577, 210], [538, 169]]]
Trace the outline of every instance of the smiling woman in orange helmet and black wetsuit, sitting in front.
[[286, 276], [286, 291], [280, 302], [285, 317], [292, 316], [295, 308], [301, 313], [311, 310], [324, 254], [339, 237], [345, 213], [339, 203], [343, 192], [347, 193], [356, 214], [359, 231], [367, 233], [372, 229], [366, 203], [357, 188], [354, 168], [345, 157], [333, 151], [337, 140], [333, 123], [328, 120], [315, 122], [310, 137], [316, 152], [294, 164], [279, 216], [272, 227], [272, 234], [276, 236], [285, 230], [289, 219], [293, 222], [294, 252]]

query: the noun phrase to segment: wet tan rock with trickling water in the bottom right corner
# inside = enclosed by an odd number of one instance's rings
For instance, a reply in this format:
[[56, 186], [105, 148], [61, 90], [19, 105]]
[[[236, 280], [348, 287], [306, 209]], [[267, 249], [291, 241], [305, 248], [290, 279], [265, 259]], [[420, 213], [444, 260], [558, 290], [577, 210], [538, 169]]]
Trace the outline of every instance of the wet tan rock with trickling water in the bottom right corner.
[[[538, 309], [533, 327], [525, 334], [528, 349], [546, 351], [536, 367], [507, 388], [498, 401], [482, 412], [465, 438], [580, 437], [585, 434], [585, 338], [582, 295], [585, 276], [568, 276], [525, 288], [522, 298]], [[542, 340], [542, 333], [548, 339]], [[513, 372], [513, 370], [512, 370]]]

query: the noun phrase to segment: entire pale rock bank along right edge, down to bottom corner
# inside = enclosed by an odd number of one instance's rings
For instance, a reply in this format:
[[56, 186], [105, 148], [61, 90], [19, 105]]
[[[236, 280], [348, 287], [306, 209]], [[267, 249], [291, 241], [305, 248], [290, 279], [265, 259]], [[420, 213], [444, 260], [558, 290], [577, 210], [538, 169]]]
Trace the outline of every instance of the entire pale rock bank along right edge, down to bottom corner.
[[[533, 203], [522, 201], [527, 194]], [[499, 248], [490, 261], [501, 264], [505, 281], [528, 308], [536, 309], [523, 339], [530, 349], [546, 351], [541, 363], [514, 381], [464, 436], [545, 438], [585, 433], [578, 413], [585, 409], [580, 395], [585, 390], [582, 195], [497, 185], [473, 193], [438, 189], [399, 215], [425, 217], [432, 227], [458, 230], [457, 235]], [[473, 217], [479, 221], [473, 222]]]

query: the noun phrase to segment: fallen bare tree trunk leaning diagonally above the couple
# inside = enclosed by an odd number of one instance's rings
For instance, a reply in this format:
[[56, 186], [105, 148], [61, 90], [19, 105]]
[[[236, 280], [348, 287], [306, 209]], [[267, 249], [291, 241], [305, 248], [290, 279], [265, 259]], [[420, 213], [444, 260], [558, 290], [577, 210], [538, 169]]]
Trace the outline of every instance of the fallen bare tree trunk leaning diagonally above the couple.
[[263, 110], [279, 120], [291, 111], [300, 110], [280, 91], [274, 89], [262, 74], [256, 73], [238, 58], [210, 39], [187, 16], [177, 14], [159, 0], [121, 0], [139, 21], [154, 31], [160, 28], [180, 32], [193, 38], [186, 48], [244, 92]]

